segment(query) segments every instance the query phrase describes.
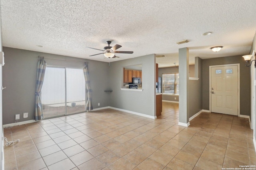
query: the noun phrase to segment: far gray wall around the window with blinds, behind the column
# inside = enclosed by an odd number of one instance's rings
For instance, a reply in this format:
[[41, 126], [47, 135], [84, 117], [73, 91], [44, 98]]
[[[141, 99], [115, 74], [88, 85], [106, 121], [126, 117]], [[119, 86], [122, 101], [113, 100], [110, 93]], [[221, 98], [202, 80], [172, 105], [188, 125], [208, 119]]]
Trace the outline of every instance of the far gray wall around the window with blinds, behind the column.
[[[158, 77], [162, 77], [162, 74], [164, 74], [164, 73], [175, 73], [175, 72], [179, 72], [179, 69], [176, 67], [158, 68]], [[194, 77], [194, 75], [195, 75], [195, 65], [189, 65], [189, 76]], [[163, 94], [162, 100], [178, 102], [179, 96]]]

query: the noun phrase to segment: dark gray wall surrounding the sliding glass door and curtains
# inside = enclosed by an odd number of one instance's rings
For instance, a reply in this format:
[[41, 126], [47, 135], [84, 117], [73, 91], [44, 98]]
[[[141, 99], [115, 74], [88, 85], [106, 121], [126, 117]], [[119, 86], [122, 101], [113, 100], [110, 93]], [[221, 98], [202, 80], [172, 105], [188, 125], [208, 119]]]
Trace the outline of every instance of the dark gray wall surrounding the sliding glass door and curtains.
[[[8, 47], [4, 47], [3, 51], [6, 63], [3, 67], [3, 86], [6, 86], [3, 91], [3, 124], [14, 123], [15, 114], [20, 114], [19, 121], [34, 119], [36, 66], [39, 61], [39, 55], [56, 59], [88, 61], [92, 106], [94, 109], [109, 106], [108, 98], [110, 94], [104, 92], [104, 90], [109, 89], [108, 63]], [[83, 63], [80, 62], [66, 62], [47, 58], [45, 60], [49, 65], [83, 66]], [[98, 103], [100, 103], [100, 106], [98, 106]], [[28, 118], [23, 118], [22, 113], [24, 112], [28, 112]]]

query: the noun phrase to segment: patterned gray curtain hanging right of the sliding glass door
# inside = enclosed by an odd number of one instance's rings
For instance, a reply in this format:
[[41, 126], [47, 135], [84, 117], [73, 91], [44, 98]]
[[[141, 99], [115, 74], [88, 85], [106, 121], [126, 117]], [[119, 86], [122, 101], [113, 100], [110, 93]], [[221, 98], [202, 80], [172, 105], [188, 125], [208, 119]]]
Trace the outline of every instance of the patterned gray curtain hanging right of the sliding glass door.
[[92, 110], [92, 97], [91, 97], [91, 88], [90, 88], [90, 79], [89, 79], [89, 70], [88, 62], [85, 62], [84, 79], [85, 79], [85, 110]]

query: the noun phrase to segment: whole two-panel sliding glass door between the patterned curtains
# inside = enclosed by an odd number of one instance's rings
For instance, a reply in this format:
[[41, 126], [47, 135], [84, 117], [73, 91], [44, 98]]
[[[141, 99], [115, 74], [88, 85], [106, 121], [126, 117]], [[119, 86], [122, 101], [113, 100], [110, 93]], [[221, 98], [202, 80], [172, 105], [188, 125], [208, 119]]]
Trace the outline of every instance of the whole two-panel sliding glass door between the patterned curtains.
[[85, 80], [82, 69], [46, 68], [42, 86], [44, 118], [85, 111]]

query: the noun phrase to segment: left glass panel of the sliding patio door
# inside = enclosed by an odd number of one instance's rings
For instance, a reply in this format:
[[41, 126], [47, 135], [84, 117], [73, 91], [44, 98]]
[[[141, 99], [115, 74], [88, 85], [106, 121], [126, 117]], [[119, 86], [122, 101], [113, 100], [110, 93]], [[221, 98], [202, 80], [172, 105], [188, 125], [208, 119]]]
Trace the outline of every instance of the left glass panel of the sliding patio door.
[[41, 94], [44, 118], [65, 115], [65, 68], [46, 68]]

